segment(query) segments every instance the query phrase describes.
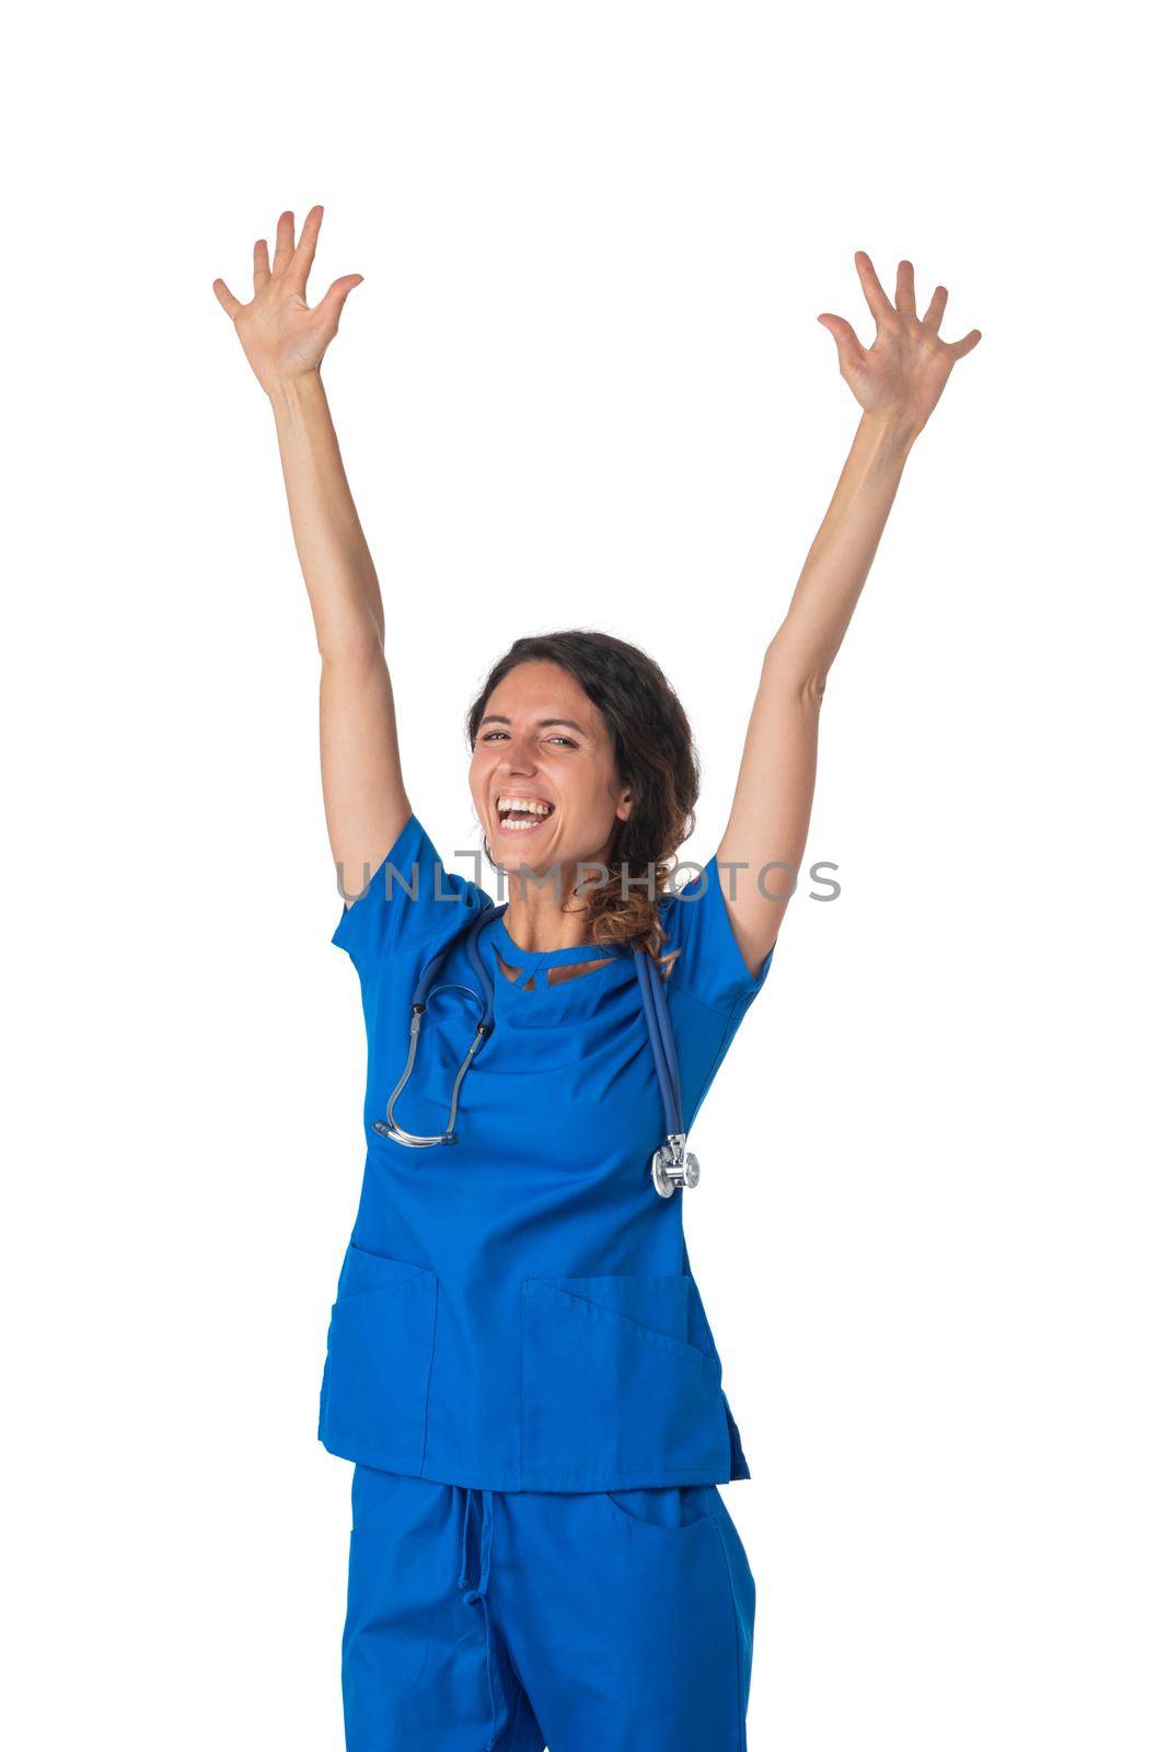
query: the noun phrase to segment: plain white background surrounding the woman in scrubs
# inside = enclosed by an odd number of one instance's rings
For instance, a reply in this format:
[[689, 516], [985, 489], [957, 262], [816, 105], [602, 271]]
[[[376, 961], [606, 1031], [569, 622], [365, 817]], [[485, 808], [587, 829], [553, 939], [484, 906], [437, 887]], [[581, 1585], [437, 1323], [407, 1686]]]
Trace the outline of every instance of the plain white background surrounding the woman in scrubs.
[[[410, 797], [525, 631], [664, 664], [721, 832], [856, 422], [853, 251], [982, 329], [832, 673], [811, 858], [693, 1137], [753, 1470], [751, 1747], [1163, 1748], [1163, 205], [1136, 9], [72, 7], [5, 163], [5, 1738], [341, 1747], [315, 1442], [357, 981], [275, 427], [310, 293]], [[700, 1636], [700, 1626], [693, 1626]], [[685, 1650], [662, 1650], [685, 1659]], [[555, 1752], [555, 1748], [552, 1748]]]

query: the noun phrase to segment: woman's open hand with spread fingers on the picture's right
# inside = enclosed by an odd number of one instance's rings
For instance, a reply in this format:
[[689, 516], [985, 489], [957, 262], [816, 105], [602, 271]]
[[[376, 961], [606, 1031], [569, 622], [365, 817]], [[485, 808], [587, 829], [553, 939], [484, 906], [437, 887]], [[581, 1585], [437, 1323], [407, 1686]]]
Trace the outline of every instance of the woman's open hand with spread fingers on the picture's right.
[[876, 319], [876, 340], [862, 347], [844, 317], [818, 321], [835, 338], [839, 371], [865, 413], [916, 438], [940, 399], [949, 371], [981, 340], [970, 329], [963, 340], [942, 340], [940, 317], [949, 293], [939, 286], [923, 317], [916, 314], [912, 263], [897, 266], [897, 303], [881, 286], [870, 256], [856, 251], [856, 273]]

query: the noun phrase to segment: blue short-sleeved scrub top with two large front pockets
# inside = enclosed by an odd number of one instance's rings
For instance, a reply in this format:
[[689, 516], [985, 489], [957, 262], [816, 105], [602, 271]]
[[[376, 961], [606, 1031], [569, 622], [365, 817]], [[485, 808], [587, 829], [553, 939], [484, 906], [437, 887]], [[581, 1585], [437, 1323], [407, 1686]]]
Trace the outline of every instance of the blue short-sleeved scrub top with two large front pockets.
[[[436, 986], [480, 986], [466, 936], [492, 904], [412, 815], [333, 936], [361, 976], [368, 1155], [320, 1440], [383, 1472], [499, 1491], [749, 1477], [690, 1274], [686, 1195], [662, 1198], [650, 1176], [665, 1116], [627, 948], [520, 950], [506, 913], [494, 918], [480, 955], [496, 1027], [462, 1083], [457, 1142], [408, 1149], [373, 1130], [424, 964], [452, 944]], [[658, 904], [665, 948], [681, 950], [664, 990], [688, 1130], [774, 951], [753, 978], [714, 858]], [[548, 981], [587, 960], [606, 965]], [[434, 988], [394, 1109], [406, 1130], [445, 1128], [476, 1018], [466, 995]]]

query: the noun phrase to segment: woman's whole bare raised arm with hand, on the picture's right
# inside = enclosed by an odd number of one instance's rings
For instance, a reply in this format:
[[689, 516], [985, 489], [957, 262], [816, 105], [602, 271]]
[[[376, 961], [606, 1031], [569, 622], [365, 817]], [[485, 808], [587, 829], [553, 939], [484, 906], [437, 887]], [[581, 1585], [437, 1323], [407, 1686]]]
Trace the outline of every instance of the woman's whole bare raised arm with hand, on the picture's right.
[[[807, 843], [828, 669], [860, 599], [909, 450], [954, 363], [981, 340], [979, 329], [960, 342], [940, 338], [949, 296], [944, 286], [918, 317], [911, 261], [897, 268], [895, 305], [863, 251], [856, 251], [856, 272], [876, 319], [872, 347], [860, 345], [844, 317], [821, 315], [820, 322], [835, 338], [841, 375], [863, 413], [786, 620], [767, 646], [730, 818], [718, 846], [730, 923], [751, 972], [758, 972], [774, 948]], [[767, 865], [786, 869], [767, 871]]]

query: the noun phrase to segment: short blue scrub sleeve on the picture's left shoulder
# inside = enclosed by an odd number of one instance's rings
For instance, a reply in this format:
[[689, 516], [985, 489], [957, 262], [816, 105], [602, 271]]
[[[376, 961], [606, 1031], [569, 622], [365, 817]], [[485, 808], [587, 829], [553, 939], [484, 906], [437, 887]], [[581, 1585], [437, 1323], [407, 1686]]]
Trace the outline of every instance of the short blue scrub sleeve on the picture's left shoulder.
[[464, 908], [480, 911], [490, 904], [476, 883], [445, 869], [412, 815], [368, 887], [345, 906], [333, 943], [348, 951], [364, 979], [385, 957], [452, 934]]

